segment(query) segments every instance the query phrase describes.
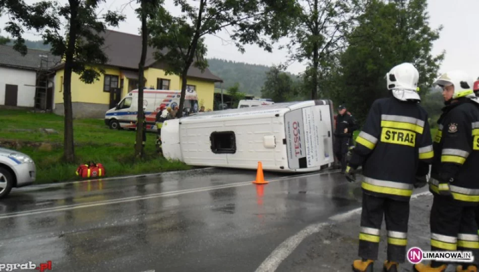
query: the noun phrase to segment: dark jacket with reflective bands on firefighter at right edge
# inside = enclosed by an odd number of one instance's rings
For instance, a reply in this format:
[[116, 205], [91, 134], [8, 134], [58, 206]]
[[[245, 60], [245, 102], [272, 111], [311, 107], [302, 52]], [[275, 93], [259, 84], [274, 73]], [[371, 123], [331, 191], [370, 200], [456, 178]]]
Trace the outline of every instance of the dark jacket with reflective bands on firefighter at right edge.
[[429, 188], [449, 182], [454, 199], [475, 205], [479, 202], [479, 105], [459, 98], [443, 108], [434, 139], [434, 161]]

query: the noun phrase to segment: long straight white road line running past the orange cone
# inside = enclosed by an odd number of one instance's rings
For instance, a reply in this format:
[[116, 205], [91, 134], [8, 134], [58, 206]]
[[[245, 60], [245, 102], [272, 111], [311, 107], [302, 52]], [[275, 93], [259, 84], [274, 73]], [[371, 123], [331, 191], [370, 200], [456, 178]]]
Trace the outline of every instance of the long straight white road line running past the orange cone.
[[[294, 179], [294, 178], [304, 177], [304, 176], [325, 175], [325, 174], [331, 174], [331, 173], [335, 173], [335, 172], [337, 172], [337, 171], [315, 173], [315, 174], [308, 173], [308, 174], [303, 174], [303, 175], [295, 175], [293, 177], [286, 176], [286, 177], [280, 177], [280, 178], [269, 180], [269, 182], [280, 181], [280, 180], [289, 179], [289, 178]], [[215, 185], [215, 186], [208, 186], [208, 187], [200, 187], [200, 188], [193, 188], [193, 189], [185, 189], [185, 190], [177, 190], [177, 191], [169, 191], [169, 192], [161, 192], [161, 193], [152, 193], [152, 194], [147, 194], [147, 195], [129, 196], [129, 197], [123, 197], [123, 198], [95, 201], [95, 202], [91, 202], [91, 203], [88, 203], [88, 204], [83, 204], [82, 203], [82, 204], [66, 205], [66, 206], [61, 206], [61, 207], [36, 209], [36, 210], [30, 210], [30, 211], [24, 211], [24, 212], [4, 214], [4, 215], [0, 216], [0, 219], [21, 217], [21, 216], [29, 216], [29, 215], [37, 215], [37, 214], [44, 214], [44, 213], [50, 213], [50, 212], [61, 212], [61, 211], [82, 209], [82, 208], [89, 208], [89, 207], [97, 207], [97, 206], [131, 202], [131, 201], [137, 201], [137, 200], [145, 200], [145, 199], [164, 197], [164, 196], [174, 196], [174, 195], [181, 195], [181, 194], [194, 193], [194, 192], [203, 192], [203, 191], [210, 191], [210, 190], [217, 190], [217, 189], [224, 189], [224, 188], [246, 186], [246, 185], [250, 185], [250, 184], [252, 184], [251, 181], [236, 182], [236, 183], [223, 184], [223, 185]]]

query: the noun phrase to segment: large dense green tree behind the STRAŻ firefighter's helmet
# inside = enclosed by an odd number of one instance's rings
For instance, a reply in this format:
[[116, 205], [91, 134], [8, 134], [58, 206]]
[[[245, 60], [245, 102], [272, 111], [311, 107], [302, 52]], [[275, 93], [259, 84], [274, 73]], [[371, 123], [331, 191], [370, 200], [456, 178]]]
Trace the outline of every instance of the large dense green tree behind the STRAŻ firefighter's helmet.
[[421, 94], [437, 76], [444, 53], [431, 54], [440, 27], [429, 27], [426, 0], [372, 0], [358, 17], [359, 26], [348, 35], [349, 47], [334, 72], [332, 97], [348, 105], [364, 121], [374, 100], [388, 95], [386, 73], [402, 62], [413, 63], [420, 73]]

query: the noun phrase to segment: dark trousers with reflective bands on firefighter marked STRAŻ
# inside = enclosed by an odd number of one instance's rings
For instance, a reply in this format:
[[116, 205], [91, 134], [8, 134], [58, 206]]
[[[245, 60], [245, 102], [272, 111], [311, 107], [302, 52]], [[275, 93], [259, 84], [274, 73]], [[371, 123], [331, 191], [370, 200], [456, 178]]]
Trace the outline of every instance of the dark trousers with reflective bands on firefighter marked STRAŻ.
[[378, 197], [363, 192], [363, 211], [358, 255], [378, 259], [383, 215], [387, 229], [387, 260], [403, 263], [406, 258], [409, 201]]

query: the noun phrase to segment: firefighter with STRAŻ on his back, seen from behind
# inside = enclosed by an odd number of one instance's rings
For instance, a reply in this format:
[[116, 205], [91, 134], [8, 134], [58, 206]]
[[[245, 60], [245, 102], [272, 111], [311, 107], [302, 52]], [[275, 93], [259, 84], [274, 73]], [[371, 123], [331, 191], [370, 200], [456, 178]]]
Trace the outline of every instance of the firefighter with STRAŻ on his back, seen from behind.
[[383, 215], [388, 236], [383, 271], [398, 271], [406, 256], [410, 196], [413, 188], [426, 186], [433, 158], [428, 114], [417, 93], [419, 73], [411, 63], [402, 63], [386, 79], [392, 97], [374, 101], [345, 171], [348, 181], [355, 181], [359, 166], [364, 175], [362, 259], [354, 260], [353, 271], [373, 271]]

